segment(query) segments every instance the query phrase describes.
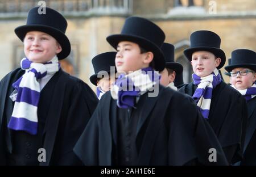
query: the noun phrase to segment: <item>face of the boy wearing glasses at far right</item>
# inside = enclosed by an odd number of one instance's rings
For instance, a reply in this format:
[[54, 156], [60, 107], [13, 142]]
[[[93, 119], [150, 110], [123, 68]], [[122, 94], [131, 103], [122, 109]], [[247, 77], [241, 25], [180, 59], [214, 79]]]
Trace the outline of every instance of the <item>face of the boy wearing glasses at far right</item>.
[[[251, 69], [248, 68], [235, 68], [232, 70], [232, 72], [246, 70], [251, 71]], [[243, 90], [253, 85], [253, 83], [256, 81], [256, 73], [248, 72], [246, 75], [241, 75], [240, 73], [237, 73], [236, 76], [231, 76], [230, 79], [234, 87], [239, 90]]]

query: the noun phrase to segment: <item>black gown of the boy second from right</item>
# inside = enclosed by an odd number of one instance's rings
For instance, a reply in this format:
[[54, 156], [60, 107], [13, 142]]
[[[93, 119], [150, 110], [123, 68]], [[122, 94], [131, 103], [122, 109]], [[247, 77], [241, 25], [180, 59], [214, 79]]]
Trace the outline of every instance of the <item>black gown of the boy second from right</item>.
[[[191, 82], [179, 91], [193, 96], [196, 88]], [[208, 122], [216, 133], [229, 164], [241, 161], [247, 125], [246, 100], [223, 81], [213, 89]]]

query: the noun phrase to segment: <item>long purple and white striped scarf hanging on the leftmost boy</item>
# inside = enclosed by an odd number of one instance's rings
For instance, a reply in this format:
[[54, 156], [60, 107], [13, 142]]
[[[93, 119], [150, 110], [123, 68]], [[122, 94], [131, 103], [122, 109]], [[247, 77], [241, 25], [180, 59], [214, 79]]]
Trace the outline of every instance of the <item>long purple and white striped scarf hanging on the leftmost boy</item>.
[[26, 73], [13, 83], [17, 94], [8, 127], [13, 130], [24, 130], [30, 134], [36, 134], [38, 132], [37, 113], [40, 98], [38, 79], [47, 74], [56, 73], [60, 69], [60, 65], [55, 56], [46, 64], [31, 62], [27, 58], [23, 58], [20, 61], [20, 66], [26, 70]]

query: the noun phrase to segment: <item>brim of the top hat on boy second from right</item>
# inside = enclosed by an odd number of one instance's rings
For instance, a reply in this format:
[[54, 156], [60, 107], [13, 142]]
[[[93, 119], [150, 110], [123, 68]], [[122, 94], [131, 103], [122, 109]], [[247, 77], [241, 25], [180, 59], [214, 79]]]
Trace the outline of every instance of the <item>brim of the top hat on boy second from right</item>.
[[216, 57], [221, 58], [221, 63], [218, 65], [217, 69], [221, 69], [226, 62], [226, 55], [223, 50], [220, 48], [214, 48], [214, 47], [195, 47], [195, 48], [188, 48], [184, 50], [184, 54], [187, 57], [189, 61], [192, 60], [192, 54], [197, 51], [208, 51], [213, 53]]

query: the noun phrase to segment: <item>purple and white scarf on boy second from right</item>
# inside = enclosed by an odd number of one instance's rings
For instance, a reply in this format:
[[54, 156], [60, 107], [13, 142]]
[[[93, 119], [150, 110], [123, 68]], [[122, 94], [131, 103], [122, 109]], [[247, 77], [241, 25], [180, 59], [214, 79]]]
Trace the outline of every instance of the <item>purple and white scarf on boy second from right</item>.
[[218, 73], [217, 68], [214, 69], [213, 73], [206, 77], [199, 77], [196, 74], [192, 74], [193, 83], [197, 85], [196, 91], [192, 98], [196, 100], [197, 106], [200, 108], [205, 119], [208, 119], [210, 112], [210, 102], [212, 99], [212, 90], [218, 84], [221, 83], [221, 76]]

